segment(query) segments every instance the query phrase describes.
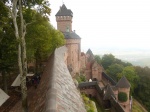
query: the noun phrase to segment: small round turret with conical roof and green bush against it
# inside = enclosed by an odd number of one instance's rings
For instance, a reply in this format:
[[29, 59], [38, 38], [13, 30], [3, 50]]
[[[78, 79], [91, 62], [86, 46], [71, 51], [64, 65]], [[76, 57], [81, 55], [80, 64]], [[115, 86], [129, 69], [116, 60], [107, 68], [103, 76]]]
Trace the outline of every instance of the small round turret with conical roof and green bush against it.
[[120, 102], [120, 104], [124, 107], [129, 104], [129, 94], [130, 94], [130, 83], [126, 79], [125, 76], [123, 76], [118, 83], [116, 84], [116, 87], [118, 88], [118, 94], [120, 92], [126, 93], [127, 94], [127, 101], [126, 102]]

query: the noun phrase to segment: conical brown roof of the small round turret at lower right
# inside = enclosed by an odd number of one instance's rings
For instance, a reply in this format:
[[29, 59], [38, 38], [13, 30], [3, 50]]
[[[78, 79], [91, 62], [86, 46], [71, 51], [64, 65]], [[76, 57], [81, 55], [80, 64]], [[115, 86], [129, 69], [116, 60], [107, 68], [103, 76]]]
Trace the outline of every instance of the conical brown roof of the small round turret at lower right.
[[119, 81], [118, 83], [116, 84], [116, 87], [119, 87], [119, 88], [129, 88], [131, 87], [129, 81], [126, 79], [125, 76], [123, 76]]

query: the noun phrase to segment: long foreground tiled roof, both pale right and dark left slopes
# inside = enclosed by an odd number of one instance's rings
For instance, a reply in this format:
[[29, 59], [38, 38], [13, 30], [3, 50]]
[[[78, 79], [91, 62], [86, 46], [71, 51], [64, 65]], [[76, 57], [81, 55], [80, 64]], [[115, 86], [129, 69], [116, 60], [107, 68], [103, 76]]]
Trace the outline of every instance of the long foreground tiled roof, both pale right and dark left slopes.
[[[50, 56], [37, 88], [28, 88], [29, 112], [86, 112], [65, 64], [66, 47]], [[21, 99], [10, 112], [22, 112]]]

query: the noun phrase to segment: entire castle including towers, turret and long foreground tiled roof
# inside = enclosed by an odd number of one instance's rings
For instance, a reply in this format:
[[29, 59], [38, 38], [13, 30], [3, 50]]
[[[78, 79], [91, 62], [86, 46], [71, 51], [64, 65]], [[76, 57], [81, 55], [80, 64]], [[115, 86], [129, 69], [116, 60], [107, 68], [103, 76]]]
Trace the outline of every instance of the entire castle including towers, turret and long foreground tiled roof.
[[[131, 112], [130, 83], [125, 77], [116, 83], [105, 74], [90, 49], [81, 53], [81, 38], [72, 31], [72, 18], [72, 11], [63, 4], [56, 14], [56, 21], [58, 30], [65, 36], [66, 47], [57, 48], [49, 57], [38, 87], [28, 87], [28, 111], [86, 112], [81, 92], [95, 97], [100, 105], [111, 112]], [[72, 78], [79, 72], [84, 73], [87, 80], [78, 85], [80, 92]], [[12, 90], [13, 94], [0, 106], [1, 112], [22, 111], [20, 91], [15, 87]], [[121, 92], [127, 95], [124, 102], [118, 98]]]

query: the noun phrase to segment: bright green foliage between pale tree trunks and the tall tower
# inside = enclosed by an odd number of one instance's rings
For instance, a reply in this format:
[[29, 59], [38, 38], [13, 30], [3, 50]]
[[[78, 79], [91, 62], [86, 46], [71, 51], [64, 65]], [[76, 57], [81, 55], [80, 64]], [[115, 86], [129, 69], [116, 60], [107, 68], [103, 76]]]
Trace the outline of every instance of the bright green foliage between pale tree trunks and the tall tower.
[[65, 44], [64, 36], [55, 30], [47, 19], [34, 10], [26, 10], [26, 19], [35, 20], [27, 27], [26, 42], [28, 60], [45, 60], [55, 50]]

